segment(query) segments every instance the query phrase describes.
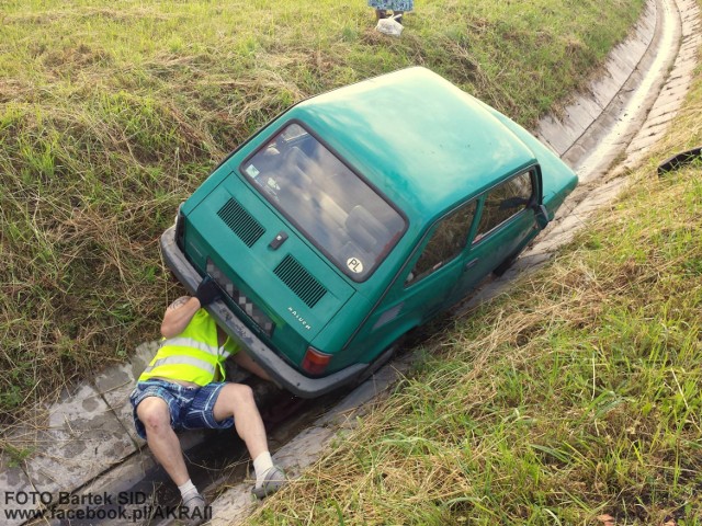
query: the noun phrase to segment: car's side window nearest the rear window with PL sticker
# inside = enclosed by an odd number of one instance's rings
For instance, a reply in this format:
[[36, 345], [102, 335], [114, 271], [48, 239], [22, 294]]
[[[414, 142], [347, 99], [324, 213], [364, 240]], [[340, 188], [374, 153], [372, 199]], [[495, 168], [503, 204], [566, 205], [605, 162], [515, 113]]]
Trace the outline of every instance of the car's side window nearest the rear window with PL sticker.
[[475, 208], [475, 202], [468, 203], [439, 221], [407, 283], [428, 276], [461, 253], [468, 238]]

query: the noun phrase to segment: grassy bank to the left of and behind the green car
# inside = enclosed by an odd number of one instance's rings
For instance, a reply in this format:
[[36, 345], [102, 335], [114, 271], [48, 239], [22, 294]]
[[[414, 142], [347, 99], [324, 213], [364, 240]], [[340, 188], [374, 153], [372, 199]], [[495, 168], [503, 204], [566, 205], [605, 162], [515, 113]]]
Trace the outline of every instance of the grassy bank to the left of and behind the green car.
[[424, 65], [530, 125], [642, 3], [437, 0], [393, 39], [364, 2], [2, 2], [0, 420], [157, 334], [159, 235], [284, 107]]

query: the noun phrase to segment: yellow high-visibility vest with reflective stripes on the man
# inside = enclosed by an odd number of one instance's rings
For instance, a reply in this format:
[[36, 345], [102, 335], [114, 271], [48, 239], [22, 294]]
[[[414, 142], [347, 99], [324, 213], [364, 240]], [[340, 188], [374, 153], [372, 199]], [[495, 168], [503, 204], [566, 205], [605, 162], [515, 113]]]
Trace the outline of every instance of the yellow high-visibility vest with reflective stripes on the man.
[[200, 309], [183, 332], [162, 340], [138, 381], [159, 377], [206, 386], [217, 371], [224, 380], [224, 361], [238, 351], [230, 338], [224, 345], [217, 345], [217, 324], [205, 309]]

